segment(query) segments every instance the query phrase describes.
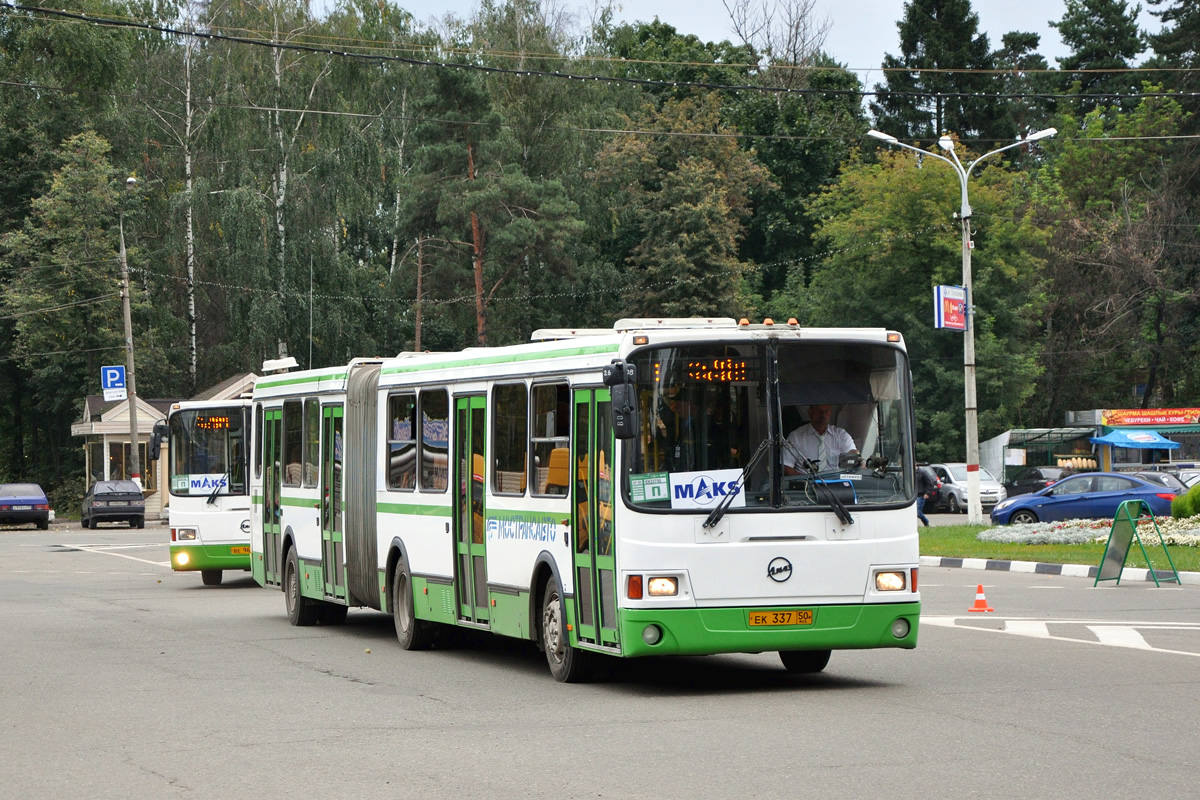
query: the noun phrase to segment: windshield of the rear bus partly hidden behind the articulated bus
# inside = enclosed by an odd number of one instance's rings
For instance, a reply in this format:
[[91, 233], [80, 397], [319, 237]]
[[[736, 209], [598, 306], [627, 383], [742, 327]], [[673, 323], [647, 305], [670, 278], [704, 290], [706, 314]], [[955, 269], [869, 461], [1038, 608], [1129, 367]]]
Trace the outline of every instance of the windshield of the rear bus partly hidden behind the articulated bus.
[[246, 494], [244, 414], [241, 405], [172, 414], [172, 494]]

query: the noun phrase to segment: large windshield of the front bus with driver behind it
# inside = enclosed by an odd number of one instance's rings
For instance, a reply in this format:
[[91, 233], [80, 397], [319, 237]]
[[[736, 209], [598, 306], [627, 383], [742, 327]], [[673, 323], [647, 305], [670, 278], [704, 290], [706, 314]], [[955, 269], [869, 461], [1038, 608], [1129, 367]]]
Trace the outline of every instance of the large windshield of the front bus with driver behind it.
[[632, 361], [642, 434], [625, 447], [625, 491], [636, 507], [703, 511], [738, 480], [733, 511], [828, 509], [830, 492], [847, 506], [913, 498], [901, 349], [764, 341], [641, 350]]

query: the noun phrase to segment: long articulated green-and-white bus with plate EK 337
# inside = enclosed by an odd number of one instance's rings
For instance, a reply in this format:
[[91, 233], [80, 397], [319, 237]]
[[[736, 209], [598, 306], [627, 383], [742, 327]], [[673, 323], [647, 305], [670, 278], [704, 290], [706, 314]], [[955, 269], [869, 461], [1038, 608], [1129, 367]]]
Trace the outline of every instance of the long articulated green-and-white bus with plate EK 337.
[[[268, 369], [264, 365], [264, 371]], [[811, 405], [854, 450], [788, 434]], [[295, 625], [389, 612], [601, 655], [914, 648], [912, 387], [876, 329], [620, 320], [514, 347], [268, 374], [251, 570]]]

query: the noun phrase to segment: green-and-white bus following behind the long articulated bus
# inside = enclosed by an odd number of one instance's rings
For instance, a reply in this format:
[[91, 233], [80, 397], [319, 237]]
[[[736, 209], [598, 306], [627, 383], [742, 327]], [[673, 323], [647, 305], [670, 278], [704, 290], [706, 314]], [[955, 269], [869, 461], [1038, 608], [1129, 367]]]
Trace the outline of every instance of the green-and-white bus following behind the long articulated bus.
[[170, 569], [198, 571], [209, 587], [224, 570], [250, 570], [250, 399], [188, 401], [167, 416]]

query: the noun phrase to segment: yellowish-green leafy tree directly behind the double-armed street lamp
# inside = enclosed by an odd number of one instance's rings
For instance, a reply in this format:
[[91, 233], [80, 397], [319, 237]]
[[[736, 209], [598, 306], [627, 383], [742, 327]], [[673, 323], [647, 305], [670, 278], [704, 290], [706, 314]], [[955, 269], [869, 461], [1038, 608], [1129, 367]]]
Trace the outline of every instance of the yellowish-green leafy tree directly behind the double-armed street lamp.
[[[967, 155], [961, 157], [967, 158]], [[1028, 180], [997, 162], [971, 179], [974, 212], [974, 324], [979, 435], [1009, 427], [1033, 392], [1043, 302], [1038, 273], [1046, 234], [1031, 212]], [[932, 330], [932, 289], [961, 282], [960, 184], [925, 158], [884, 152], [852, 158], [811, 215], [827, 253], [810, 285], [797, 275], [802, 324], [900, 331], [912, 360], [918, 457], [958, 459], [964, 447], [962, 339]]]

